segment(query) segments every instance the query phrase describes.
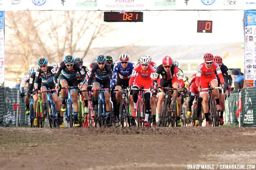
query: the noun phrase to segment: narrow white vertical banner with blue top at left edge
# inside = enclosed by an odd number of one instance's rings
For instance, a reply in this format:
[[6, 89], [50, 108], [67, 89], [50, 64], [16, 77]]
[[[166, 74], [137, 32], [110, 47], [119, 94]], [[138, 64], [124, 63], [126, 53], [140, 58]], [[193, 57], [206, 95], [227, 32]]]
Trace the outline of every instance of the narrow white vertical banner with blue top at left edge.
[[0, 84], [2, 84], [3, 82], [4, 82], [4, 11], [0, 11]]

